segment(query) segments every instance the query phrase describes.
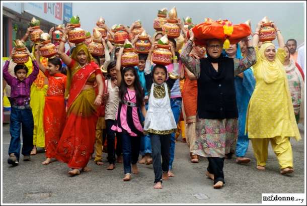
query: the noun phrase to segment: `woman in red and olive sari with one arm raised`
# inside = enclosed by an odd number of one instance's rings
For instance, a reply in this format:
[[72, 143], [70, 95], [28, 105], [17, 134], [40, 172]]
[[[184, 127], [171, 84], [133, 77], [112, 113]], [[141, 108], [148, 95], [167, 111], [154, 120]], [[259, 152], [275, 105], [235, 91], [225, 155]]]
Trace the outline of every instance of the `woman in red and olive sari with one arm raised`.
[[[69, 97], [66, 124], [56, 149], [56, 158], [68, 164], [72, 169], [68, 172], [70, 175], [76, 175], [82, 169], [90, 170], [86, 166], [94, 152], [97, 106], [102, 102], [103, 79], [85, 44], [77, 44], [71, 58], [61, 52], [68, 31], [66, 28], [58, 50], [60, 58], [68, 66], [65, 97], [68, 93]], [[98, 84], [97, 96], [93, 88], [95, 81]]]

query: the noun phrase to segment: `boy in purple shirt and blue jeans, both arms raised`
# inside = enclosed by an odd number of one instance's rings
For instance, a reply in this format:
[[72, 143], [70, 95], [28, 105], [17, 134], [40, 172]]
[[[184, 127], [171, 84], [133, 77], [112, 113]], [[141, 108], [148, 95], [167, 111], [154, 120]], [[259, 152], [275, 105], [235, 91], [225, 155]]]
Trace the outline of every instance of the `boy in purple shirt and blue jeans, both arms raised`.
[[14, 166], [19, 164], [20, 156], [20, 129], [22, 127], [23, 147], [22, 154], [24, 155], [24, 161], [30, 160], [30, 152], [33, 148], [33, 115], [30, 108], [30, 87], [33, 81], [36, 79], [39, 68], [35, 59], [31, 56], [28, 49], [24, 53], [28, 54], [32, 60], [34, 69], [28, 76], [28, 68], [24, 64], [18, 64], [14, 68], [14, 73], [17, 76], [12, 76], [9, 73], [9, 64], [12, 56], [15, 54], [15, 49], [9, 59], [6, 61], [3, 67], [3, 77], [11, 86], [11, 121], [10, 121], [10, 133], [11, 142], [9, 147], [9, 159], [8, 163]]

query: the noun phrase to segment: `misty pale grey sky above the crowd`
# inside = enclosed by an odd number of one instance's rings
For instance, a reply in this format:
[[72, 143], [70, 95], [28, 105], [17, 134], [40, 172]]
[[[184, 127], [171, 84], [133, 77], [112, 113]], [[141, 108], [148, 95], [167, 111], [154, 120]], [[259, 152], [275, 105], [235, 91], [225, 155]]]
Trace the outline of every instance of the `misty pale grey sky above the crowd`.
[[[176, 7], [178, 18], [187, 16], [194, 24], [204, 22], [204, 18], [229, 20], [234, 24], [251, 20], [252, 31], [257, 23], [267, 16], [280, 29], [284, 40], [296, 39], [297, 46], [304, 42], [304, 3], [74, 3], [72, 15], [79, 15], [81, 28], [93, 32], [97, 20], [103, 17], [111, 28], [114, 24], [130, 26], [141, 20], [143, 28], [152, 36], [153, 21], [158, 10]], [[277, 44], [275, 40], [273, 42]]]

